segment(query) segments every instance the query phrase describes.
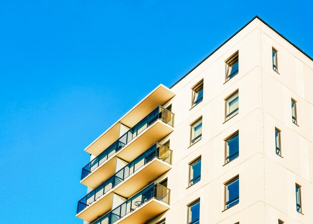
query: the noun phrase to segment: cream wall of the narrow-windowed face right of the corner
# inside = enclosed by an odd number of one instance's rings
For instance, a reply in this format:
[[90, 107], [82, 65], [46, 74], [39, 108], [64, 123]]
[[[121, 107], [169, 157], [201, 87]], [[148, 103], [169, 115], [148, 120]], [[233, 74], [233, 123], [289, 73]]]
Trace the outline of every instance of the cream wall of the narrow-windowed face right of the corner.
[[[313, 63], [263, 24], [261, 31], [266, 214], [285, 223], [312, 223], [313, 89], [309, 83], [313, 83]], [[267, 56], [272, 47], [278, 50], [278, 73]], [[291, 120], [291, 98], [297, 101], [298, 126]], [[281, 130], [283, 158], [273, 151], [275, 127]], [[304, 215], [295, 209], [295, 183], [302, 186]], [[277, 219], [270, 215], [266, 223]]]

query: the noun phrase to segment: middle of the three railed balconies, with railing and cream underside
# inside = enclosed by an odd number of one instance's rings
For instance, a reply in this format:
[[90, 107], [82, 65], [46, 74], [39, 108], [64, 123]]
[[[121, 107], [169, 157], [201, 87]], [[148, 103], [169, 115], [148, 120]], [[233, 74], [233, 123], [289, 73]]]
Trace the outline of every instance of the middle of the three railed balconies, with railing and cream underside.
[[78, 201], [77, 217], [90, 221], [111, 209], [113, 193], [128, 198], [171, 168], [172, 151], [155, 143]]

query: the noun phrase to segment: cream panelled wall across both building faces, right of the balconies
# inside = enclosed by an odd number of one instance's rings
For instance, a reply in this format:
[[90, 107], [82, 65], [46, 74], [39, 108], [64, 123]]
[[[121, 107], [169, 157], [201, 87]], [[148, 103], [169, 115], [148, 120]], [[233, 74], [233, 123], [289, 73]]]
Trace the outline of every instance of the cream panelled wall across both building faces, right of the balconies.
[[[278, 50], [278, 72], [271, 48]], [[239, 51], [239, 73], [224, 83], [224, 61]], [[151, 220], [187, 223], [186, 205], [200, 197], [200, 222], [312, 223], [313, 63], [255, 19], [172, 90], [175, 114], [170, 134], [173, 168], [170, 209]], [[203, 101], [190, 109], [191, 88], [203, 79]], [[224, 98], [239, 90], [239, 113], [224, 122]], [[297, 101], [296, 126], [291, 99]], [[189, 146], [189, 124], [202, 116], [202, 139]], [[275, 154], [274, 128], [281, 130], [282, 157]], [[239, 130], [239, 156], [224, 165], [223, 139]], [[188, 163], [201, 155], [201, 180], [191, 187]], [[225, 211], [223, 183], [239, 174], [239, 203]], [[302, 185], [304, 215], [295, 210], [295, 182]]]

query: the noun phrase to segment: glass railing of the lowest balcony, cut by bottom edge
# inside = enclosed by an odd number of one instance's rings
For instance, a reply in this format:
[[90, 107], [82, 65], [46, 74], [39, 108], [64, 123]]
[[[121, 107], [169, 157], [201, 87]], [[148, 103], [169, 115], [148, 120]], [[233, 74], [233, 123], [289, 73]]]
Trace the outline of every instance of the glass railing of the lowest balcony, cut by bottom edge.
[[89, 224], [112, 224], [153, 198], [169, 204], [169, 194], [170, 190], [167, 187], [158, 183], [152, 183], [98, 220], [89, 222]]

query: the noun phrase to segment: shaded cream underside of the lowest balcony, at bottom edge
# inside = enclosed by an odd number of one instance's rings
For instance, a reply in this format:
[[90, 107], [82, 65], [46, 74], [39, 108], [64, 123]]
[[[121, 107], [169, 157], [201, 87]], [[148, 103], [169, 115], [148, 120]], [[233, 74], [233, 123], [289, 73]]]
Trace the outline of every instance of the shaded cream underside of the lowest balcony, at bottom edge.
[[146, 221], [150, 220], [156, 215], [163, 213], [168, 208], [168, 204], [153, 198], [132, 212], [128, 213], [120, 220], [114, 222], [114, 224], [144, 224]]

